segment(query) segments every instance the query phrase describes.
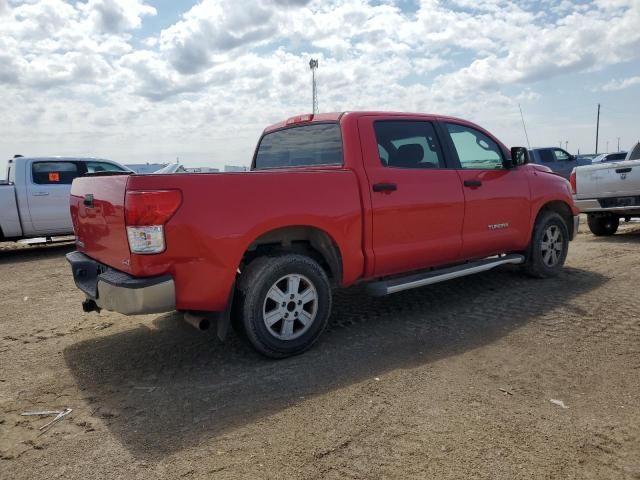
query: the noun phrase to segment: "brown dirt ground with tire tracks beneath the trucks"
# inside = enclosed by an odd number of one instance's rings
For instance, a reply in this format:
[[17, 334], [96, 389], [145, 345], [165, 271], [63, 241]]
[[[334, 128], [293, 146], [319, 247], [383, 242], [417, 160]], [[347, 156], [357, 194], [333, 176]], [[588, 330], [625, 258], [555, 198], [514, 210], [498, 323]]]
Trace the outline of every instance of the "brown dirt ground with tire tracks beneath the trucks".
[[3, 244], [0, 478], [640, 479], [639, 249], [628, 225], [552, 280], [346, 291], [272, 361], [175, 313], [84, 314], [71, 245]]

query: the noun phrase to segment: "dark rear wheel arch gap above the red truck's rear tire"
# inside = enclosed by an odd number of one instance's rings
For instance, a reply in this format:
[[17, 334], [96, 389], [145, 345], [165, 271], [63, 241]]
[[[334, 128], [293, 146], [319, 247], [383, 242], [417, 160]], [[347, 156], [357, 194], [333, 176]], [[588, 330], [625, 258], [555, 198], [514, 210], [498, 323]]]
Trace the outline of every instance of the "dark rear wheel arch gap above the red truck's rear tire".
[[245, 249], [240, 262], [276, 253], [300, 253], [316, 260], [333, 286], [342, 283], [342, 253], [338, 243], [324, 229], [311, 225], [290, 225], [261, 233]]

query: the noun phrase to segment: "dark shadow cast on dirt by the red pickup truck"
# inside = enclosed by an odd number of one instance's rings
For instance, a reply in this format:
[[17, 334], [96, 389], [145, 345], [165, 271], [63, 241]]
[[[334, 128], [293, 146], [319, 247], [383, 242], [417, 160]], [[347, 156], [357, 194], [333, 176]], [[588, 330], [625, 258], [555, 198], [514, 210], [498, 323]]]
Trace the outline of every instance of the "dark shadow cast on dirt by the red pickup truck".
[[502, 268], [383, 298], [347, 290], [322, 340], [280, 361], [236, 335], [221, 344], [177, 313], [74, 344], [64, 358], [93, 415], [136, 458], [155, 461], [301, 396], [489, 344], [605, 281], [572, 268], [549, 280]]

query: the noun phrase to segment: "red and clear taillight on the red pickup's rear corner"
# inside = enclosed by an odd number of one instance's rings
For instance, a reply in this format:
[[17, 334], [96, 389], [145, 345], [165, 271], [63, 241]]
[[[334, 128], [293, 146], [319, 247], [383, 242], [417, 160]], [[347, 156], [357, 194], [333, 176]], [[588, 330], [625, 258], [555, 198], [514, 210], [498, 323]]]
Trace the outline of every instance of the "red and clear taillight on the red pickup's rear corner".
[[164, 225], [182, 203], [179, 190], [130, 191], [125, 197], [125, 222], [131, 253], [161, 253]]

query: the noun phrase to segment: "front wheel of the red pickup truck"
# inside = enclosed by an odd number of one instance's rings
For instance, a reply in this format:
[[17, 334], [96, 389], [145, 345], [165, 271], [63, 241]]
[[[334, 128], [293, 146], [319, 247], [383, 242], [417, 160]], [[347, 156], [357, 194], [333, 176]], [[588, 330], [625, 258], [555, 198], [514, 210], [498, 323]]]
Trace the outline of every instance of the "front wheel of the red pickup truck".
[[[559, 237], [552, 241], [555, 232], [558, 232]], [[564, 266], [568, 250], [569, 229], [565, 220], [556, 212], [542, 212], [533, 227], [524, 270], [536, 278], [555, 277]]]

